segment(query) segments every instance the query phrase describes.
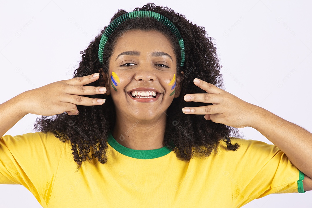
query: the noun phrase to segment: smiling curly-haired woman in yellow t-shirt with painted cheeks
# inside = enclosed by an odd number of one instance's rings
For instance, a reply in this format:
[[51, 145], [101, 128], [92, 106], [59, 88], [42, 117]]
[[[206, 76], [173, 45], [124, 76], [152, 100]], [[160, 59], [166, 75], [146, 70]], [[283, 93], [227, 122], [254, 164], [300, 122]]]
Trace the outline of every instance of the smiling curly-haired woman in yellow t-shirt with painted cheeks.
[[[115, 14], [75, 78], [1, 105], [2, 135], [25, 114], [56, 115], [37, 120], [41, 132], [3, 137], [1, 183], [24, 185], [44, 207], [76, 206], [82, 193], [92, 196], [81, 206], [240, 207], [311, 190], [302, 160], [311, 134], [218, 88], [216, 49], [201, 27], [153, 4], [137, 11], [149, 15]], [[251, 126], [279, 148], [230, 139], [231, 126]], [[41, 159], [27, 165], [25, 154]]]

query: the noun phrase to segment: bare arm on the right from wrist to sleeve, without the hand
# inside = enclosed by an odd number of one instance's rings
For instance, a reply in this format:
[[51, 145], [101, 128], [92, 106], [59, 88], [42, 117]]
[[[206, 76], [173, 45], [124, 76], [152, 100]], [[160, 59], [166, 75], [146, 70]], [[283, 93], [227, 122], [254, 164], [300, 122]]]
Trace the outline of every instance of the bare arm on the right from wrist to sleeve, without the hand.
[[280, 148], [300, 171], [305, 173], [305, 191], [312, 190], [312, 134], [258, 106], [254, 106], [251, 127]]

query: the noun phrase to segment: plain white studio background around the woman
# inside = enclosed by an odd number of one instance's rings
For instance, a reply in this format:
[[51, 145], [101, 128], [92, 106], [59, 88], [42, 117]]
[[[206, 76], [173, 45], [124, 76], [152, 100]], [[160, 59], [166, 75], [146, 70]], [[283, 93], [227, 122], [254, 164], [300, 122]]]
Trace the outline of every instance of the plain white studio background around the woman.
[[[109, 24], [115, 12], [119, 8], [130, 12], [146, 3], [2, 1], [0, 103], [26, 90], [72, 78], [81, 60], [79, 52]], [[215, 38], [225, 90], [312, 131], [310, 2], [159, 0], [154, 3], [184, 14]], [[28, 114], [6, 134], [32, 132], [36, 117]], [[271, 143], [255, 129], [243, 128], [241, 132], [246, 139]], [[244, 208], [308, 208], [312, 207], [311, 198], [312, 191], [272, 194]], [[0, 185], [0, 207], [41, 206], [24, 186]]]

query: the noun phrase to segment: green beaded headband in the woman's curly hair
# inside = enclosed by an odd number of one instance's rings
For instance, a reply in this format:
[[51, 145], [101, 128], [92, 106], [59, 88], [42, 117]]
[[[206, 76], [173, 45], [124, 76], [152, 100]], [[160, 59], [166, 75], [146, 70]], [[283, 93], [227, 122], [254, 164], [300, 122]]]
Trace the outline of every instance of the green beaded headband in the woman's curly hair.
[[157, 12], [151, 12], [151, 11], [134, 11], [134, 12], [129, 12], [125, 13], [119, 17], [117, 17], [113, 22], [110, 23], [110, 25], [105, 29], [101, 40], [100, 40], [100, 45], [99, 45], [99, 60], [101, 63], [103, 63], [103, 50], [104, 46], [110, 37], [110, 35], [119, 27], [120, 24], [122, 24], [124, 21], [128, 19], [133, 19], [135, 17], [154, 17], [156, 20], [159, 22], [163, 23], [165, 26], [167, 26], [170, 31], [173, 32], [173, 34], [177, 37], [179, 41], [179, 45], [181, 48], [181, 64], [180, 66], [184, 65], [184, 60], [185, 60], [185, 52], [184, 52], [184, 41], [183, 38], [178, 31], [177, 27], [167, 18], [164, 17], [163, 15], [157, 13]]

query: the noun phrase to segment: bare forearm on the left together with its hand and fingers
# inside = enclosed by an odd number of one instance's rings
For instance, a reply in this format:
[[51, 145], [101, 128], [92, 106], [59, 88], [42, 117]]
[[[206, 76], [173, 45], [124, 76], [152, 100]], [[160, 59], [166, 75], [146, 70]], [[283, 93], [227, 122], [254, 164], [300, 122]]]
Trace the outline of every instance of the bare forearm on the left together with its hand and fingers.
[[[94, 75], [94, 76], [93, 76]], [[0, 136], [27, 114], [78, 115], [76, 105], [102, 105], [105, 99], [80, 95], [105, 94], [105, 87], [84, 86], [99, 78], [99, 73], [62, 80], [28, 90], [0, 105]]]

